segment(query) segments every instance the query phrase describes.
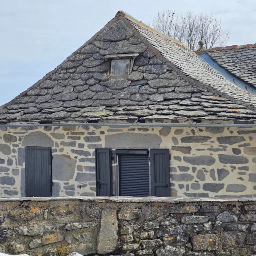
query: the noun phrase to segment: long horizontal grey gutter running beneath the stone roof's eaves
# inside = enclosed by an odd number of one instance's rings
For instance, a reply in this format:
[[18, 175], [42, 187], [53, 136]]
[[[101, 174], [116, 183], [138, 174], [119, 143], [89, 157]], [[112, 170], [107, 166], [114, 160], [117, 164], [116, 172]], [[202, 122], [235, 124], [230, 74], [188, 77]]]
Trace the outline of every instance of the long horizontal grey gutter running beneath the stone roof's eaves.
[[0, 124], [0, 127], [42, 127], [42, 126], [109, 126], [109, 127], [236, 127], [256, 128], [256, 124], [211, 124], [211, 123], [50, 123], [50, 124]]

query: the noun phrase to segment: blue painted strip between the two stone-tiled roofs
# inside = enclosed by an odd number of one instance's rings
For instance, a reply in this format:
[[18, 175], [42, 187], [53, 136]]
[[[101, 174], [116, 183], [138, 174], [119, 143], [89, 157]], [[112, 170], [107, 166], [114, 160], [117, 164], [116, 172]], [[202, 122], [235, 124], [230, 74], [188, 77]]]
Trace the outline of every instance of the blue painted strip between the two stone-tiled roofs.
[[217, 70], [221, 75], [223, 75], [225, 78], [227, 78], [231, 83], [239, 86], [245, 91], [248, 91], [254, 95], [256, 95], [256, 87], [253, 85], [245, 82], [244, 80], [236, 77], [231, 72], [223, 68], [218, 62], [216, 62], [208, 53], [199, 54], [199, 56], [207, 62], [212, 68]]

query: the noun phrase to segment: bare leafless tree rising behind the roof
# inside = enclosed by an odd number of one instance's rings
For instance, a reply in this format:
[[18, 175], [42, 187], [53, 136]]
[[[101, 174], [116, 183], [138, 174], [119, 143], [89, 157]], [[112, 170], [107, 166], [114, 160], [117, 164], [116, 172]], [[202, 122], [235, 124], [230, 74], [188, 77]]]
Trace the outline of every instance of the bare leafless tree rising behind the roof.
[[230, 36], [230, 31], [222, 29], [221, 21], [212, 14], [186, 12], [177, 15], [170, 9], [158, 12], [153, 19], [153, 28], [178, 39], [191, 50], [199, 48], [200, 40], [204, 40], [205, 48], [225, 46]]

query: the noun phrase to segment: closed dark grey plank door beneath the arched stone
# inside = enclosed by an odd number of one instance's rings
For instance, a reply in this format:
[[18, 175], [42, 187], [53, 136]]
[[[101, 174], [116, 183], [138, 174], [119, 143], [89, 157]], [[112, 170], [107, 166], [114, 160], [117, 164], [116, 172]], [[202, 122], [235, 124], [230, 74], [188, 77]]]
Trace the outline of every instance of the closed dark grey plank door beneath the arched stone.
[[52, 196], [52, 152], [49, 147], [25, 147], [26, 197]]

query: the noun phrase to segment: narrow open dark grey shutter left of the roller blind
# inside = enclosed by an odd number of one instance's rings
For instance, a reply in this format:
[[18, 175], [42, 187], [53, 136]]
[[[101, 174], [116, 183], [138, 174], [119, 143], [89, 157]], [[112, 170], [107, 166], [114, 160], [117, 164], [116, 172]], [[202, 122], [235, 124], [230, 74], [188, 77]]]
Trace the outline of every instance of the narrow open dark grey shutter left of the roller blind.
[[112, 196], [111, 149], [96, 149], [97, 196]]

